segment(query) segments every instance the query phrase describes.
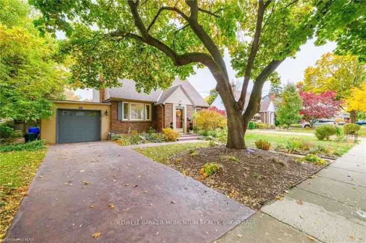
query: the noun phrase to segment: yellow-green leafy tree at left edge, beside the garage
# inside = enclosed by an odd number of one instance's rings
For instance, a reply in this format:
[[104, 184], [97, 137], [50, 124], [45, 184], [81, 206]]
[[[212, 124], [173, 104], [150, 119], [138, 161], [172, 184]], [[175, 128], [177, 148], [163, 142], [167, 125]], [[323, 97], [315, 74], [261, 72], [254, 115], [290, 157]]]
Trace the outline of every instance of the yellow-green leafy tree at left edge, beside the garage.
[[67, 73], [54, 61], [56, 42], [39, 37], [29, 6], [20, 0], [0, 2], [0, 117], [48, 118], [51, 98], [63, 91]]

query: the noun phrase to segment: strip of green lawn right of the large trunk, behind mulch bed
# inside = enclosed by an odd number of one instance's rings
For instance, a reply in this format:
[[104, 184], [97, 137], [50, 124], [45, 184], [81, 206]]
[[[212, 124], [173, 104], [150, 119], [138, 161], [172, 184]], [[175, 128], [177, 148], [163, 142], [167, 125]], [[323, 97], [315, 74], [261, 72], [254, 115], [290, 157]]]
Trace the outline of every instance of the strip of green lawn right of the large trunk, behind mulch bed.
[[254, 142], [259, 139], [268, 140], [272, 147], [275, 147], [277, 144], [285, 145], [289, 139], [300, 138], [306, 142], [310, 142], [314, 145], [322, 145], [329, 150], [336, 151], [337, 154], [342, 155], [345, 154], [355, 143], [352, 142], [337, 142], [337, 141], [320, 141], [316, 137], [313, 136], [299, 136], [299, 135], [288, 135], [288, 134], [274, 134], [274, 133], [250, 133], [247, 131], [245, 134], [245, 143], [248, 147], [255, 147]]

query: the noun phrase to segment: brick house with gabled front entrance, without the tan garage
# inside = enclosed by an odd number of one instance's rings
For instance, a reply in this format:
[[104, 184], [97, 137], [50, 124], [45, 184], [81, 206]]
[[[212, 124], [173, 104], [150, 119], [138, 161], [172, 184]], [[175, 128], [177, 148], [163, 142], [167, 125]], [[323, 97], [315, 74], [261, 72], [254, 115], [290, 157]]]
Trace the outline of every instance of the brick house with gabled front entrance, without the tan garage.
[[194, 112], [208, 104], [189, 81], [175, 79], [167, 90], [136, 91], [133, 80], [123, 79], [121, 87], [93, 90], [93, 102], [110, 103], [110, 131], [127, 133], [161, 132], [172, 123], [175, 131], [186, 133]]

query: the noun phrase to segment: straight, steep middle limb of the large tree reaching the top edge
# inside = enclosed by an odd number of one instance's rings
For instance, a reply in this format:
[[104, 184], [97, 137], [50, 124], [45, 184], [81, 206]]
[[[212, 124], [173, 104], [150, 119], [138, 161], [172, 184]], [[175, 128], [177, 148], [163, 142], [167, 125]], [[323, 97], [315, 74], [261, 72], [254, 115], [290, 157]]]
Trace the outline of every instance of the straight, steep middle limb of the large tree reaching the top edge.
[[259, 48], [259, 40], [260, 40], [261, 32], [262, 32], [264, 11], [265, 11], [266, 6], [268, 6], [268, 4], [269, 4], [268, 2], [270, 2], [270, 0], [267, 0], [267, 2], [265, 4], [264, 4], [263, 0], [259, 0], [257, 24], [256, 24], [255, 32], [254, 32], [253, 42], [252, 42], [252, 46], [250, 49], [248, 61], [246, 63], [246, 67], [245, 67], [242, 92], [241, 92], [240, 98], [238, 100], [239, 106], [243, 107], [243, 109], [244, 109], [244, 103], [245, 103], [245, 96], [246, 96], [246, 92], [247, 92], [248, 84], [249, 84], [249, 80], [250, 80], [250, 73], [252, 71], [255, 56], [257, 55], [258, 48]]

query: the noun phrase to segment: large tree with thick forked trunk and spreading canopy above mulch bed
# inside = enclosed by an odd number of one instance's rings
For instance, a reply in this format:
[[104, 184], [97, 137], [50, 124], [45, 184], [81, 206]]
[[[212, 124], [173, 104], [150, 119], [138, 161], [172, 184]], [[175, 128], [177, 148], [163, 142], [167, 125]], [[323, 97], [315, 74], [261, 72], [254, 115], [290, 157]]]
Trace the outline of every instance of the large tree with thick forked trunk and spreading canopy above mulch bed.
[[[193, 74], [194, 67], [208, 67], [228, 117], [226, 146], [236, 149], [245, 148], [244, 132], [260, 109], [264, 82], [313, 37], [318, 23], [329, 22], [325, 17], [334, 1], [322, 2], [324, 8], [308, 0], [30, 0], [42, 13], [35, 21], [41, 32], [66, 33], [61, 53], [73, 56], [73, 80], [84, 86], [119, 85], [118, 78], [130, 78], [138, 91], [149, 92], [167, 88], [175, 76]], [[238, 100], [225, 49], [244, 76]], [[250, 80], [254, 86], [244, 111]]]

